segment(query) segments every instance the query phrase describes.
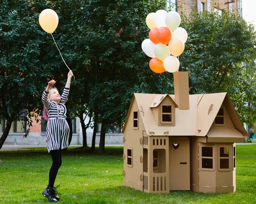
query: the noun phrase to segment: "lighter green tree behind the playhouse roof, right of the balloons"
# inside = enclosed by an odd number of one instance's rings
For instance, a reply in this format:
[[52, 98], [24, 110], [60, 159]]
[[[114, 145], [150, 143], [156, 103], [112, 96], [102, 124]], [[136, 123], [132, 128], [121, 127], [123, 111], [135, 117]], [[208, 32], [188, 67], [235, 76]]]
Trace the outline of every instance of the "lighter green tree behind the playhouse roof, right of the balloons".
[[256, 32], [241, 16], [192, 12], [181, 70], [189, 71], [190, 94], [228, 92], [242, 122], [256, 121]]

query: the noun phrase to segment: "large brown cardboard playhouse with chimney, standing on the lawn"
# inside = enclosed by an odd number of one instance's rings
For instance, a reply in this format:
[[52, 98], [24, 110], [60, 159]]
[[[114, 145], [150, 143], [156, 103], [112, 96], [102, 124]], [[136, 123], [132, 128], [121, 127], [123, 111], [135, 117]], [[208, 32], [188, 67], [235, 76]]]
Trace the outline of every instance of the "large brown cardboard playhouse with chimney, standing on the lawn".
[[188, 81], [175, 72], [175, 95], [134, 94], [122, 130], [124, 186], [236, 191], [236, 142], [248, 134], [227, 93], [189, 95]]

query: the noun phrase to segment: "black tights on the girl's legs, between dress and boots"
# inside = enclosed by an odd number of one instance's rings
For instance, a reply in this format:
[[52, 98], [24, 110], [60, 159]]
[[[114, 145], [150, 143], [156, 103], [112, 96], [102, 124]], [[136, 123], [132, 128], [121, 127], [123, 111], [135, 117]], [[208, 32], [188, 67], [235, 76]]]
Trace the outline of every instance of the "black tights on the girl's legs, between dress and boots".
[[49, 187], [53, 188], [58, 169], [61, 167], [62, 149], [50, 151], [52, 156], [52, 167], [49, 172]]

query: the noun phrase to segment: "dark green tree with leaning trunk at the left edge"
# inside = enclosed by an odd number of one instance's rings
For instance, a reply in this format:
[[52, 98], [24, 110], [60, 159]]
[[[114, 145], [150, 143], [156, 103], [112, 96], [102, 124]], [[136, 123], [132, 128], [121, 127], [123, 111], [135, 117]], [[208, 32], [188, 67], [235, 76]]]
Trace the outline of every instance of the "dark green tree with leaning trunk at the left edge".
[[[25, 1], [3, 0], [0, 8], [0, 121], [6, 120], [0, 149], [12, 122], [22, 113], [38, 109], [40, 91], [49, 77], [48, 62], [41, 52], [45, 39], [37, 23], [34, 5]], [[39, 63], [42, 60], [44, 63]], [[30, 120], [31, 124], [31, 120]], [[29, 130], [27, 131], [27, 133]]]

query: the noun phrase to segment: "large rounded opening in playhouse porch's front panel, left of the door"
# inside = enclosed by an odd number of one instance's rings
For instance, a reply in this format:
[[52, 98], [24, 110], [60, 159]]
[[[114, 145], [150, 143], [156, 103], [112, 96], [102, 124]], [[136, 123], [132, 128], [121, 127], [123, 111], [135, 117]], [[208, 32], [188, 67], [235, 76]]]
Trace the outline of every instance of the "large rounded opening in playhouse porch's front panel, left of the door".
[[153, 150], [153, 172], [154, 173], [166, 172], [166, 150], [165, 149]]

